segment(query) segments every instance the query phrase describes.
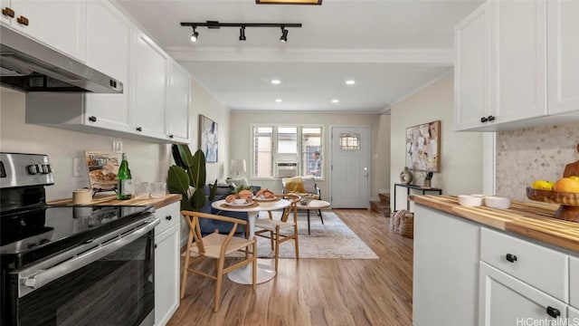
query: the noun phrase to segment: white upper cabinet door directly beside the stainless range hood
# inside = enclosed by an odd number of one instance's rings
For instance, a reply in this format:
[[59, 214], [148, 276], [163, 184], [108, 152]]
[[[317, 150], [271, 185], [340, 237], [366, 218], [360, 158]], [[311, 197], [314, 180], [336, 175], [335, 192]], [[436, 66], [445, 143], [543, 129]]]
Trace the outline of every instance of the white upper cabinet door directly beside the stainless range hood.
[[89, 1], [87, 10], [87, 64], [123, 82], [123, 93], [86, 94], [84, 121], [96, 117], [93, 124], [101, 128], [133, 131], [128, 106], [132, 26], [108, 2]]

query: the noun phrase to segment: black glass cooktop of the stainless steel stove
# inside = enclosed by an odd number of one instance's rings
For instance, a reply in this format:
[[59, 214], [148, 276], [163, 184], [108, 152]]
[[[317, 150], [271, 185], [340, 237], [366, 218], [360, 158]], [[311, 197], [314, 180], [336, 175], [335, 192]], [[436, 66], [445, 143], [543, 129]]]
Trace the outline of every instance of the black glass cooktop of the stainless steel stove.
[[145, 219], [152, 212], [152, 206], [44, 206], [3, 214], [2, 268], [19, 268], [89, 243], [100, 235]]

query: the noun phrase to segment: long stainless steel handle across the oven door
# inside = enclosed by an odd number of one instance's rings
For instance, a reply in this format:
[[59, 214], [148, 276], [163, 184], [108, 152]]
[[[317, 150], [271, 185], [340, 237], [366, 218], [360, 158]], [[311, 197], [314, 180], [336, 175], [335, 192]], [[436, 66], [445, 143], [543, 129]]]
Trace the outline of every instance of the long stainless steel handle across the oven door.
[[[37, 290], [43, 287], [44, 285], [51, 283], [52, 281], [68, 273], [76, 271], [81, 267], [86, 266], [92, 262], [95, 262], [100, 258], [113, 253], [119, 248], [130, 244], [131, 242], [137, 240], [139, 237], [146, 235], [149, 231], [153, 230], [155, 226], [157, 226], [158, 224], [159, 219], [155, 218], [147, 225], [135, 230], [132, 233], [129, 233], [128, 235], [124, 235], [123, 237], [119, 238], [119, 240], [116, 240], [108, 245], [99, 245], [95, 249], [90, 250], [85, 254], [80, 254], [71, 260], [68, 260], [62, 264], [54, 265], [47, 270], [40, 270], [38, 273], [35, 273], [33, 275], [21, 276], [20, 286], [29, 288], [27, 292]], [[19, 296], [21, 297], [23, 296], [23, 294], [21, 293]]]

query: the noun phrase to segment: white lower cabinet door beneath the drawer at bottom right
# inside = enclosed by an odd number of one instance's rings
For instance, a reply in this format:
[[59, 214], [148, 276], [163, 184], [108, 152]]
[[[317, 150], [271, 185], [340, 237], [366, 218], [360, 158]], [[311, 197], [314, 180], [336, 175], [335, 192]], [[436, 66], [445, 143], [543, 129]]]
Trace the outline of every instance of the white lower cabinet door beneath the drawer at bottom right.
[[[565, 321], [567, 305], [488, 264], [480, 263], [479, 325], [522, 325], [525, 321]], [[532, 284], [531, 284], [532, 285]], [[549, 312], [547, 312], [549, 311]], [[560, 321], [557, 321], [558, 323]]]

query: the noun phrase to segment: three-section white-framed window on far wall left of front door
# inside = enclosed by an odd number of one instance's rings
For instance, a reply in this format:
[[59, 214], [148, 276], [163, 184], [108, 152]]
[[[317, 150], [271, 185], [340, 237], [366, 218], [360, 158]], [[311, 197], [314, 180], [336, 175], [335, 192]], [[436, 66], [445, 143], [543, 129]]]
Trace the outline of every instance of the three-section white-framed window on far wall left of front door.
[[252, 177], [280, 177], [278, 162], [296, 162], [298, 175], [323, 177], [322, 127], [253, 126], [252, 130]]

